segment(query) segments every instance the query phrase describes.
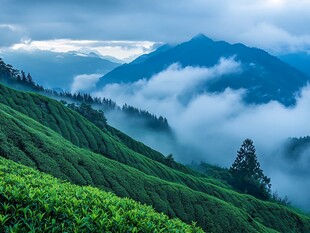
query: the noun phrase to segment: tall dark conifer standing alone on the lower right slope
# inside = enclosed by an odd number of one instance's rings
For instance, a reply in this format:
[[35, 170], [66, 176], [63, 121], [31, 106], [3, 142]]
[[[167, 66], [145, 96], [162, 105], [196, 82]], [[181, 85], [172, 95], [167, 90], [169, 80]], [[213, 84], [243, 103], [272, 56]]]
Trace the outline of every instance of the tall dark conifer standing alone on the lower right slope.
[[233, 178], [232, 185], [239, 191], [261, 199], [270, 198], [270, 178], [260, 168], [251, 139], [244, 140], [229, 172]]

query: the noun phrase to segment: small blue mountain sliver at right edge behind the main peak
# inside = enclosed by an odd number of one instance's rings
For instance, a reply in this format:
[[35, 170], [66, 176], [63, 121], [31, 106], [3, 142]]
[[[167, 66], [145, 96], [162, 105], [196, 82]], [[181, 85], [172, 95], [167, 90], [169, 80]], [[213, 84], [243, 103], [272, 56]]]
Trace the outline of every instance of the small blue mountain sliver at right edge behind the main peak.
[[308, 52], [283, 54], [279, 58], [310, 76], [310, 54]]

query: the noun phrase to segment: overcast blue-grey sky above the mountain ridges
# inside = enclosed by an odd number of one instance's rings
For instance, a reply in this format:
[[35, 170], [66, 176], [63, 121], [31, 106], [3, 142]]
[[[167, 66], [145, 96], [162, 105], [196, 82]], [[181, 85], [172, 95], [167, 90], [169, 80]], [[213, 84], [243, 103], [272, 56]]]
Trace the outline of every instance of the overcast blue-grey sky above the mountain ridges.
[[0, 47], [89, 47], [130, 59], [158, 42], [204, 33], [274, 54], [310, 50], [308, 0], [0, 0], [0, 5]]

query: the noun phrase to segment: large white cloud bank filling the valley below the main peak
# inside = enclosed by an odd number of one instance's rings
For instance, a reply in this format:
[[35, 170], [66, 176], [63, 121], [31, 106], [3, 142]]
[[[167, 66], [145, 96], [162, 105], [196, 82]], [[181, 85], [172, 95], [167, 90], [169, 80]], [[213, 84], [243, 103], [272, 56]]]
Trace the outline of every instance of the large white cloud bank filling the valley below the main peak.
[[276, 101], [248, 105], [243, 101], [246, 90], [195, 92], [208, 80], [236, 72], [242, 72], [242, 64], [234, 58], [222, 58], [211, 68], [173, 64], [149, 80], [107, 85], [95, 95], [167, 117], [178, 144], [189, 148], [186, 155], [171, 151], [181, 162], [207, 161], [228, 167], [242, 141], [251, 138], [262, 168], [274, 177], [274, 190], [287, 194], [299, 207], [310, 209], [308, 196], [301, 195], [310, 189], [309, 182], [295, 183], [298, 189], [290, 188], [294, 179], [305, 177], [298, 176], [299, 168], [280, 152], [287, 138], [310, 135], [310, 87], [296, 97], [294, 107]]

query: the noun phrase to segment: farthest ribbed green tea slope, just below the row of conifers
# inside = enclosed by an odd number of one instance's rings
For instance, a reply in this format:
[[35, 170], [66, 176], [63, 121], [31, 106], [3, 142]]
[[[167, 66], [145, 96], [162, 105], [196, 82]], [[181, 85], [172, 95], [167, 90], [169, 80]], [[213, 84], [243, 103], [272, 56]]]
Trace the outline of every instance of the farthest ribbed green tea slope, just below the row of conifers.
[[[111, 126], [100, 130], [58, 101], [35, 93], [16, 91], [0, 84], [0, 102], [48, 126], [74, 145], [88, 148], [93, 152], [104, 154], [109, 158], [134, 167], [138, 166], [138, 169], [144, 172], [156, 174], [156, 170], [151, 171], [153, 166], [147, 164], [149, 162], [153, 163], [154, 160], [165, 164], [165, 157], [159, 152], [129, 138]], [[121, 141], [121, 143], [118, 143], [118, 141]], [[121, 146], [124, 143], [130, 146], [132, 150], [124, 151]], [[134, 151], [143, 152], [144, 156], [132, 153]], [[147, 159], [147, 157], [151, 160]], [[180, 164], [173, 163], [170, 166], [182, 172], [194, 174], [194, 172]]]

